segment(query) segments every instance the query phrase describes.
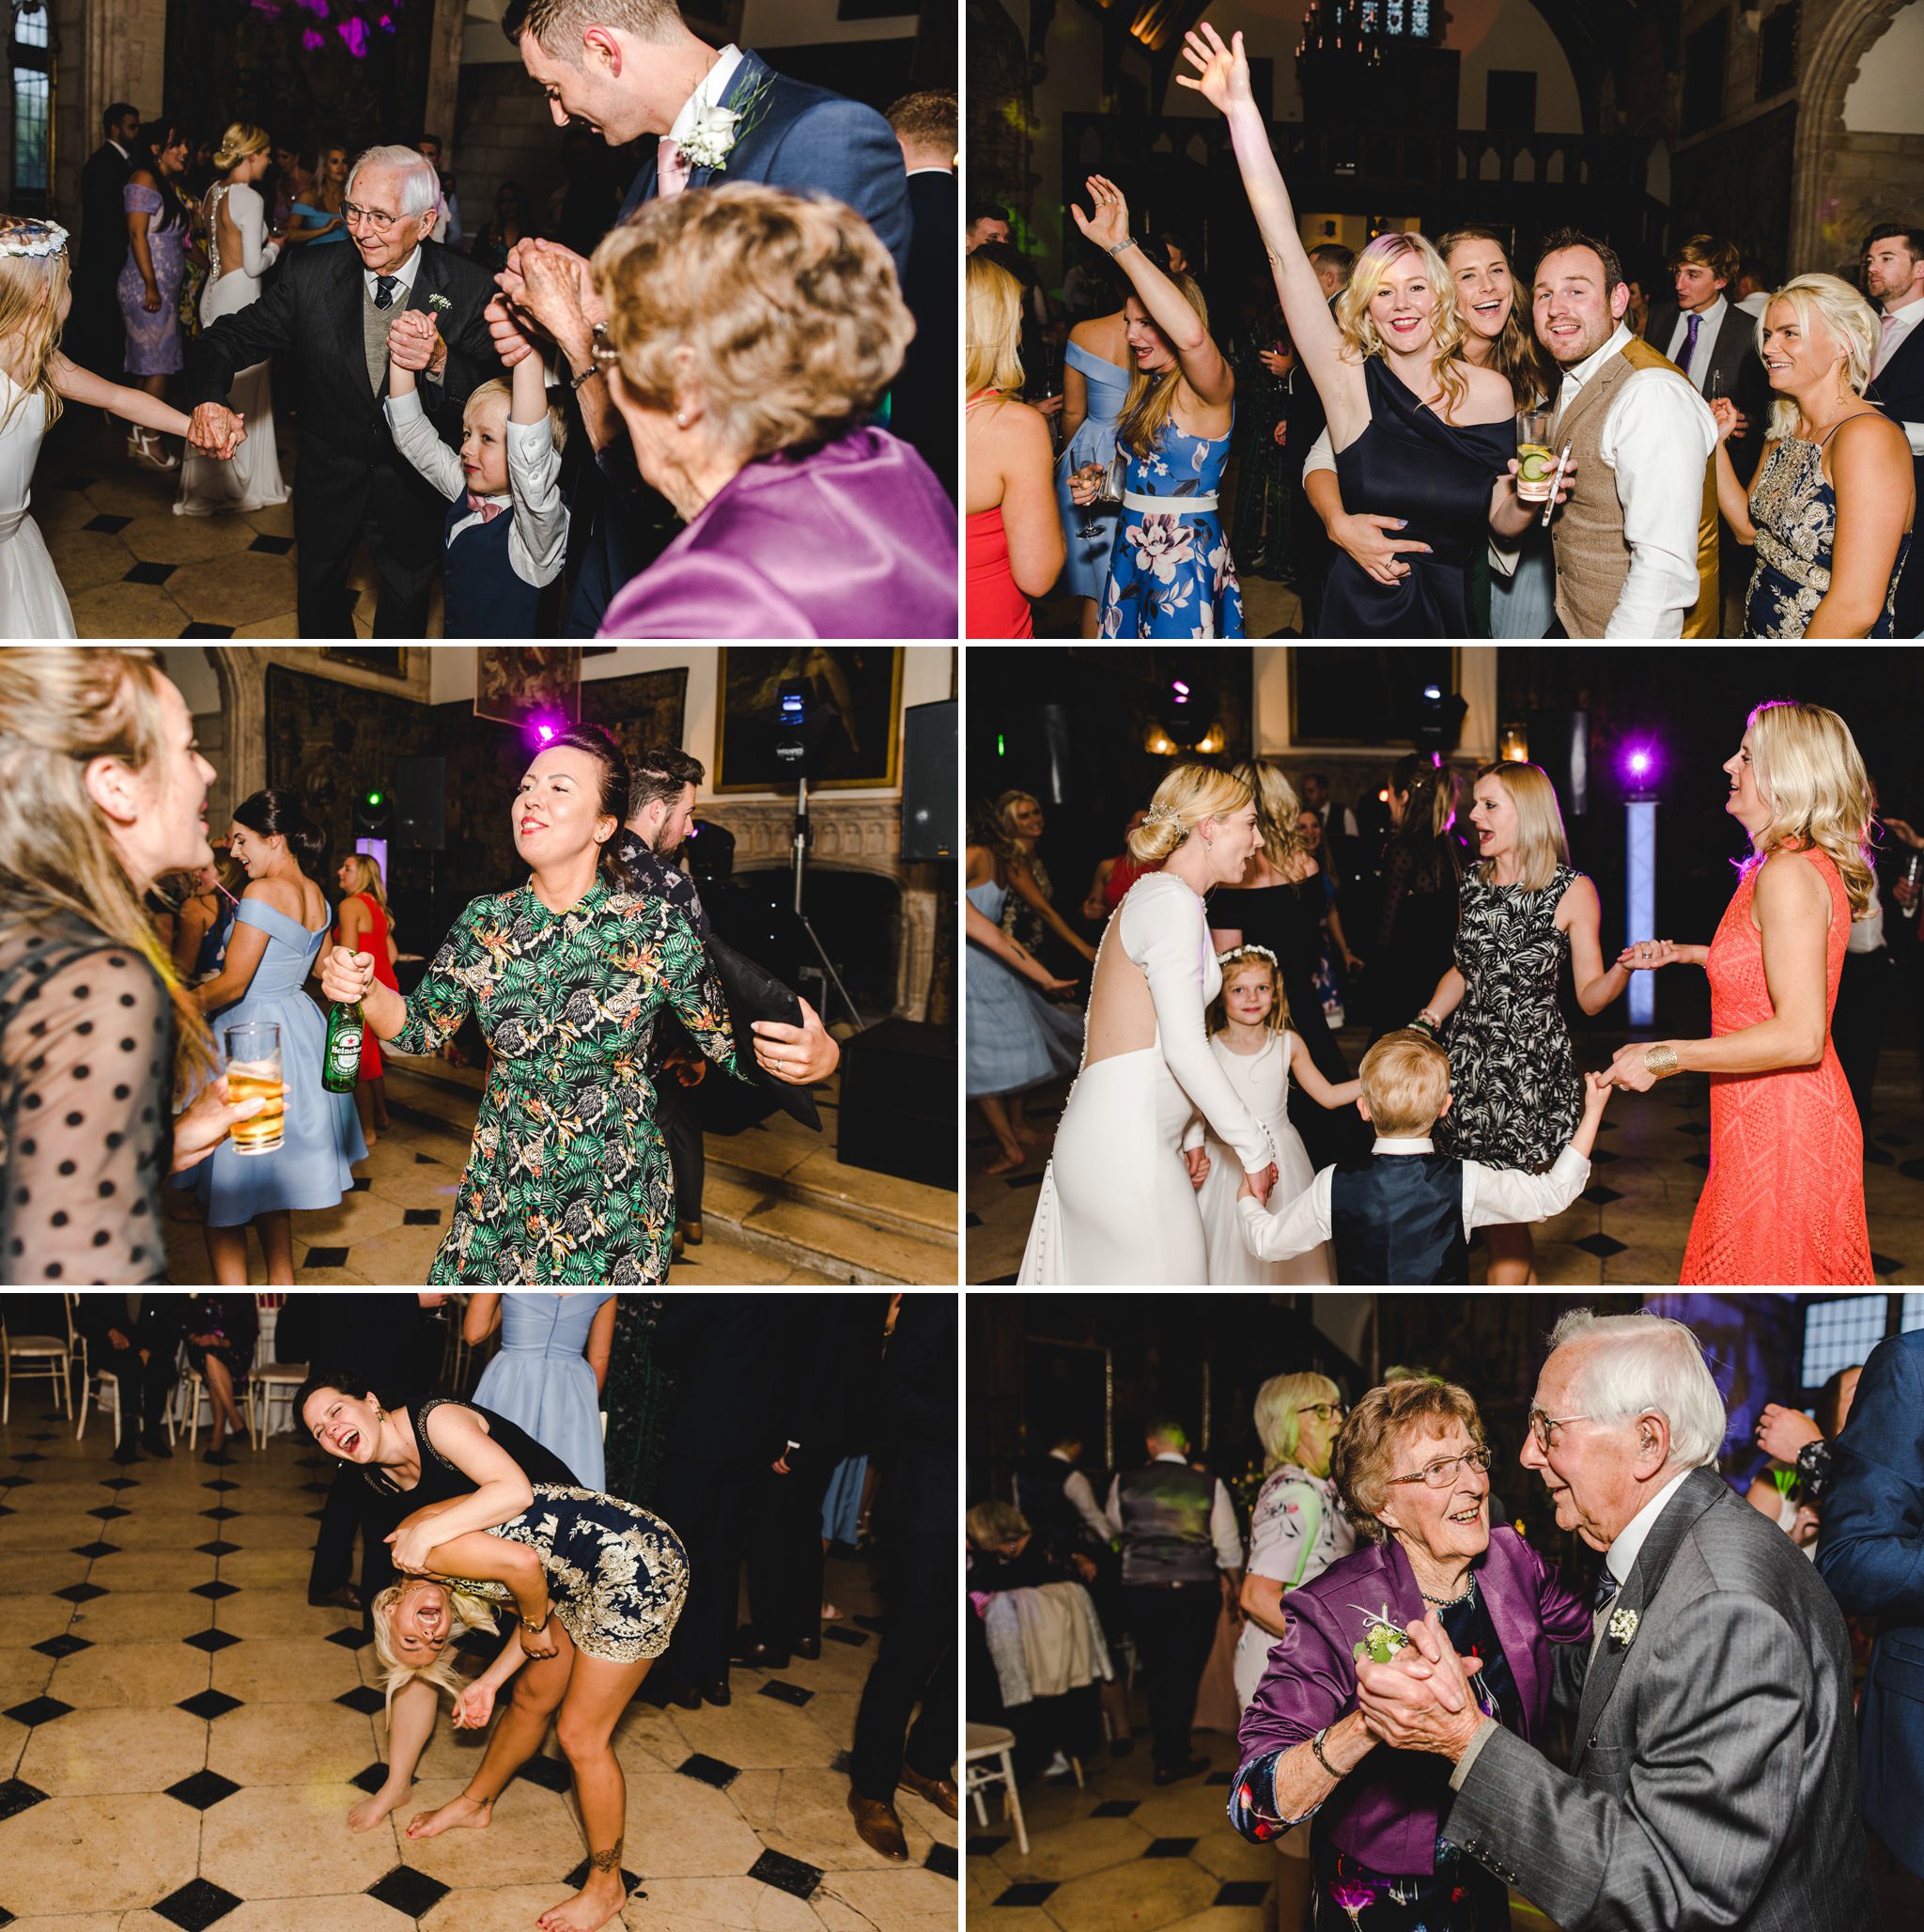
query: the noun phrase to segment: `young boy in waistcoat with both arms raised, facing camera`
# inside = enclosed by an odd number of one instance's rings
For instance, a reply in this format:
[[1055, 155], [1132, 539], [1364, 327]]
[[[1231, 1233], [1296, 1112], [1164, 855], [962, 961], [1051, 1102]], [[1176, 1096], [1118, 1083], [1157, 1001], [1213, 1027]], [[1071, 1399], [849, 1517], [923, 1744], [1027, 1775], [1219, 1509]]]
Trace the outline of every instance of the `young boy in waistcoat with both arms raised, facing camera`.
[[[433, 315], [419, 309], [394, 323], [394, 334], [433, 328]], [[386, 415], [402, 456], [450, 498], [440, 634], [533, 638], [541, 589], [560, 576], [568, 554], [560, 497], [566, 423], [549, 408], [541, 357], [523, 355], [514, 365], [512, 388], [496, 379], [467, 398], [460, 456], [421, 413], [413, 371], [392, 355]]]

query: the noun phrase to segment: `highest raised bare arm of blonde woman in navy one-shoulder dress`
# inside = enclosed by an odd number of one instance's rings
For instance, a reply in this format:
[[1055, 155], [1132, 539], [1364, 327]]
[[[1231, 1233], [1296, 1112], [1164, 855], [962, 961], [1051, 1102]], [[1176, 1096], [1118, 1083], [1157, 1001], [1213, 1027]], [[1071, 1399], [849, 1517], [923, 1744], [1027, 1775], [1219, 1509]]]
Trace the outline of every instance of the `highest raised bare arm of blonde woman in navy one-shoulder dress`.
[[1323, 284], [1316, 278], [1302, 236], [1296, 234], [1296, 211], [1290, 207], [1283, 170], [1269, 147], [1269, 129], [1250, 91], [1250, 62], [1242, 52], [1242, 35], [1231, 35], [1225, 46], [1215, 27], [1203, 21], [1182, 39], [1182, 58], [1196, 70], [1196, 77], [1178, 73], [1176, 83], [1200, 93], [1229, 120], [1236, 166], [1242, 170], [1242, 187], [1250, 197], [1250, 211], [1256, 214], [1277, 280], [1283, 319], [1316, 392], [1323, 398], [1331, 440], [1344, 450], [1370, 421], [1362, 363], [1343, 357], [1343, 332], [1329, 313]]

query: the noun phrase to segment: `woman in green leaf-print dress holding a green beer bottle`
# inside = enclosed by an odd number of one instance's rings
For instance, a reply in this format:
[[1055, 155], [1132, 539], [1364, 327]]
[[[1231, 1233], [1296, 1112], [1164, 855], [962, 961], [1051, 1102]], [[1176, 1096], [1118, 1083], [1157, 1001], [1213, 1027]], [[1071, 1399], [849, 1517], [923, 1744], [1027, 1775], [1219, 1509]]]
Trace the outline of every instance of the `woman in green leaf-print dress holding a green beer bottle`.
[[431, 1053], [469, 1012], [495, 1049], [431, 1285], [663, 1281], [674, 1182], [643, 1070], [657, 1014], [672, 1009], [707, 1059], [750, 1078], [693, 927], [603, 867], [626, 808], [614, 742], [558, 732], [514, 802], [523, 887], [471, 900], [408, 999], [375, 981], [369, 954], [326, 958], [326, 997], [361, 1001], [396, 1053]]

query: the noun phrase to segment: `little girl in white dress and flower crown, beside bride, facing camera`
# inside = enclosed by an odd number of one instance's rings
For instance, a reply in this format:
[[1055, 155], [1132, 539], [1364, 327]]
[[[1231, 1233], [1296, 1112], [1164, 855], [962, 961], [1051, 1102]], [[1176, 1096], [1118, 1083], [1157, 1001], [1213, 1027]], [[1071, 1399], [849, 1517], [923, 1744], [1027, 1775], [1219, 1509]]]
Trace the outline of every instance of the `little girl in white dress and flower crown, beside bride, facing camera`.
[[[1348, 1107], [1362, 1082], [1331, 1086], [1290, 1032], [1283, 972], [1267, 947], [1236, 947], [1223, 954], [1223, 991], [1209, 1003], [1209, 1051], [1250, 1113], [1269, 1128], [1277, 1150], [1277, 1184], [1271, 1200], [1285, 1208], [1316, 1179], [1302, 1136], [1288, 1124], [1288, 1082], [1294, 1072], [1310, 1099], [1323, 1107]], [[1182, 1136], [1190, 1182], [1198, 1188], [1203, 1240], [1209, 1252], [1209, 1287], [1327, 1289], [1335, 1285], [1329, 1242], [1292, 1262], [1259, 1262], [1242, 1240], [1236, 1219], [1236, 1157], [1198, 1115]]]

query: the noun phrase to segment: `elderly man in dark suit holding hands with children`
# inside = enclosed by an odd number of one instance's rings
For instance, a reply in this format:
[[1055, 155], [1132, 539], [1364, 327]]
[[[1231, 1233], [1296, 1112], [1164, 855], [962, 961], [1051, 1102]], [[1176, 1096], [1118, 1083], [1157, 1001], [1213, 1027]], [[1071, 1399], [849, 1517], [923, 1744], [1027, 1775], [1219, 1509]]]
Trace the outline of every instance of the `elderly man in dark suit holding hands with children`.
[[400, 454], [388, 410], [388, 330], [410, 309], [435, 317], [433, 348], [396, 336], [419, 371], [415, 406], [448, 448], [467, 396], [502, 373], [483, 311], [487, 270], [437, 243], [440, 176], [411, 147], [371, 147], [348, 174], [342, 216], [354, 247], [299, 249], [274, 286], [220, 317], [191, 346], [195, 439], [228, 454], [245, 433], [226, 406], [236, 375], [269, 357], [299, 369], [301, 458], [294, 541], [303, 638], [352, 638], [348, 576], [365, 541], [381, 580], [377, 638], [421, 638], [446, 498]]

